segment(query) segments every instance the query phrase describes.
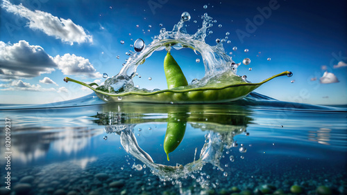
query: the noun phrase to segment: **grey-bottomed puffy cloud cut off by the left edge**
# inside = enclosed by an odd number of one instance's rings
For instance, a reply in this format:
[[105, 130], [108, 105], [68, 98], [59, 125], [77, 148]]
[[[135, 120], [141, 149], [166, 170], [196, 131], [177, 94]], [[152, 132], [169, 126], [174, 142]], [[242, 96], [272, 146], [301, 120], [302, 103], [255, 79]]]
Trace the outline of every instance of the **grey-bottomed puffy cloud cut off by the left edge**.
[[0, 41], [0, 78], [18, 79], [51, 73], [58, 67], [41, 46], [31, 46], [27, 41], [5, 44]]

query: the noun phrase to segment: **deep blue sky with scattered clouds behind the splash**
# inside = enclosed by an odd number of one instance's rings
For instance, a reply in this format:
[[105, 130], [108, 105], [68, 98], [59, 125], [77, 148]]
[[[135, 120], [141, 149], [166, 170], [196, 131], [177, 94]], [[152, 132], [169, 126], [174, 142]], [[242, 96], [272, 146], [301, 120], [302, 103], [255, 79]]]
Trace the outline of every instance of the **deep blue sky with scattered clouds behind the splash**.
[[[294, 73], [293, 77], [264, 84], [257, 93], [289, 102], [347, 104], [346, 4], [285, 0], [2, 0], [0, 104], [42, 104], [92, 93], [62, 79], [69, 76], [101, 84], [105, 81], [103, 73], [119, 73], [127, 58], [125, 53], [133, 50], [130, 44], [138, 38], [151, 43], [161, 28], [171, 30], [185, 11], [192, 17], [187, 22], [190, 34], [201, 27], [205, 12], [217, 20], [210, 28], [213, 33], [205, 39], [210, 45], [230, 32], [231, 43], [223, 46], [226, 53], [232, 51], [237, 63], [245, 57], [251, 59], [251, 64], [239, 66], [237, 72], [247, 75], [249, 81], [260, 82], [282, 71]], [[232, 50], [234, 46], [236, 51]], [[203, 77], [203, 62], [196, 62], [199, 56], [192, 50], [174, 50], [171, 54], [188, 81]], [[166, 89], [162, 68], [165, 55], [163, 50], [155, 52], [140, 65], [137, 73], [142, 77], [135, 77], [135, 84]]]

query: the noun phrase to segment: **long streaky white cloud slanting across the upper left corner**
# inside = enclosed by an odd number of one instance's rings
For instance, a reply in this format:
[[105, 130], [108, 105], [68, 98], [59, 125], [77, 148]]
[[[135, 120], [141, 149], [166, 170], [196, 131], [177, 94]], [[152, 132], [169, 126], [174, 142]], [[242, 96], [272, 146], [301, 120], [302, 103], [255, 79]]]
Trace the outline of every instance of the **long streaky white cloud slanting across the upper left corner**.
[[8, 12], [12, 12], [20, 17], [29, 20], [28, 27], [34, 30], [41, 30], [46, 35], [56, 37], [71, 45], [74, 42], [81, 44], [83, 42], [93, 42], [92, 35], [87, 35], [82, 26], [74, 24], [71, 19], [62, 19], [55, 17], [47, 12], [40, 10], [29, 10], [21, 4], [13, 5], [8, 0], [3, 0], [1, 7]]

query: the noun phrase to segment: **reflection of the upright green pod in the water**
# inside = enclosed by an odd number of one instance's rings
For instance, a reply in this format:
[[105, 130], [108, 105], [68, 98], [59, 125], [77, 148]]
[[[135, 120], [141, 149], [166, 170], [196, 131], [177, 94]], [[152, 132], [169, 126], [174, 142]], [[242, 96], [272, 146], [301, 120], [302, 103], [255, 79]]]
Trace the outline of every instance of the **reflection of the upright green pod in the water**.
[[185, 136], [185, 129], [187, 127], [187, 116], [169, 113], [167, 118], [167, 132], [164, 138], [164, 151], [167, 154], [169, 161], [169, 153], [174, 151]]

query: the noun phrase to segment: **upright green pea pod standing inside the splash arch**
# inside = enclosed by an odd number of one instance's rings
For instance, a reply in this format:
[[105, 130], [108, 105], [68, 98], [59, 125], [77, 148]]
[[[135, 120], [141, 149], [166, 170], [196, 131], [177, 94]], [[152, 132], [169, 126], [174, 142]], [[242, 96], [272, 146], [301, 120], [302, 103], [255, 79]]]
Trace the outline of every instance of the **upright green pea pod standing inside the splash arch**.
[[170, 52], [167, 52], [167, 56], [164, 59], [164, 72], [167, 77], [167, 88], [173, 89], [178, 86], [187, 86], [188, 82], [185, 75], [182, 72], [180, 66], [178, 66], [176, 60]]

